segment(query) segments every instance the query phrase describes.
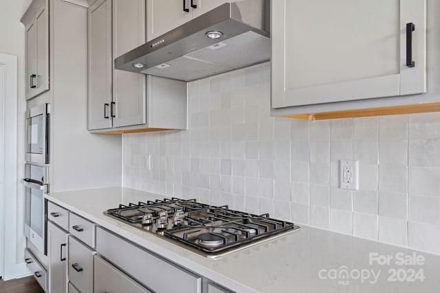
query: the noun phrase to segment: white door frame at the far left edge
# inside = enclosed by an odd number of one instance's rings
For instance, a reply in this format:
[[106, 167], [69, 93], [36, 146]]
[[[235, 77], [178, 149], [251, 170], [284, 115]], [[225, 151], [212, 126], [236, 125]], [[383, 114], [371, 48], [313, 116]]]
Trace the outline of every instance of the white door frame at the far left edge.
[[[3, 71], [3, 90], [0, 92], [0, 119], [3, 135], [0, 136], [0, 155], [3, 158], [0, 180], [0, 266], [4, 280], [29, 274], [24, 261], [17, 259], [17, 235], [23, 231], [17, 227], [17, 104], [18, 58], [0, 54], [0, 70]], [[3, 97], [3, 99], [2, 99]], [[1, 131], [0, 131], [1, 134]], [[8, 239], [8, 241], [6, 241]]]

